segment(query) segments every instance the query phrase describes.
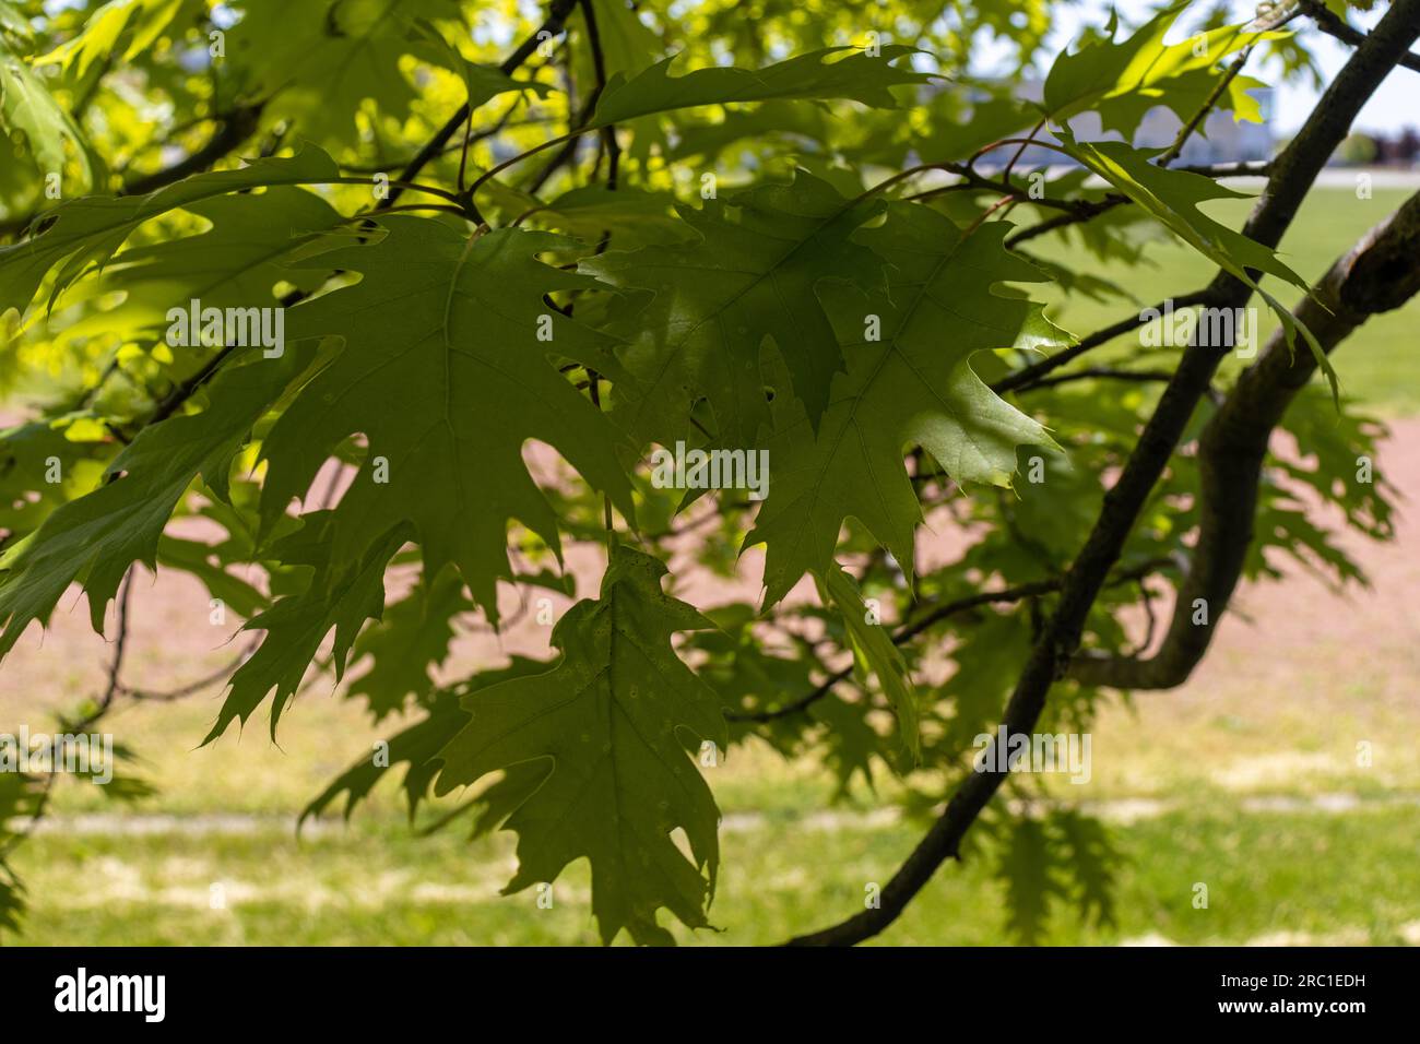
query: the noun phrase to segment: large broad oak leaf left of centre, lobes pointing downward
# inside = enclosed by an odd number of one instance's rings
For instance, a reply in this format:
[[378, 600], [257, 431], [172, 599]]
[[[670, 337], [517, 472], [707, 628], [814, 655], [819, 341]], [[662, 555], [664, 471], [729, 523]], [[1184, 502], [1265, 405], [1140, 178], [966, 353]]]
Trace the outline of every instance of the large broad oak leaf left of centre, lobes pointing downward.
[[331, 520], [332, 558], [356, 561], [409, 521], [426, 571], [454, 562], [491, 615], [496, 581], [513, 578], [511, 520], [561, 547], [557, 514], [523, 460], [524, 443], [545, 442], [635, 517], [615, 429], [555, 362], [615, 372], [612, 342], [542, 300], [599, 284], [537, 259], [571, 244], [559, 236], [525, 229], [470, 236], [408, 214], [378, 220], [375, 241], [301, 261], [362, 278], [287, 312], [288, 342], [339, 338], [342, 348], [261, 445], [270, 464], [263, 524], [305, 496], [344, 439], [364, 435], [368, 459]]

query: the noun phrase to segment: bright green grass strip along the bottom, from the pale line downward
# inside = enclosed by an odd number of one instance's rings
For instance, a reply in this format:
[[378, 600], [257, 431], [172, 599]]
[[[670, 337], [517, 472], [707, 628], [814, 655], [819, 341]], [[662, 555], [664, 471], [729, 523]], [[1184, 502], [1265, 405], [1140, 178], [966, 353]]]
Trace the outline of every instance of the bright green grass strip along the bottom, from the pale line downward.
[[[768, 817], [727, 827], [711, 909], [721, 932], [682, 940], [777, 943], [862, 908], [916, 842], [913, 824]], [[1113, 827], [1123, 854], [1116, 922], [1055, 909], [1042, 942], [1420, 942], [1420, 808], [1240, 814], [1227, 801]], [[534, 891], [500, 896], [513, 844], [415, 838], [399, 818], [297, 842], [277, 824], [250, 834], [34, 838], [34, 905], [17, 942], [36, 945], [547, 945], [598, 942], [588, 875], [571, 866], [551, 909]], [[1196, 882], [1207, 909], [1193, 908]], [[213, 885], [224, 898], [212, 909]], [[1000, 945], [1004, 886], [983, 859], [943, 871], [879, 942]]]

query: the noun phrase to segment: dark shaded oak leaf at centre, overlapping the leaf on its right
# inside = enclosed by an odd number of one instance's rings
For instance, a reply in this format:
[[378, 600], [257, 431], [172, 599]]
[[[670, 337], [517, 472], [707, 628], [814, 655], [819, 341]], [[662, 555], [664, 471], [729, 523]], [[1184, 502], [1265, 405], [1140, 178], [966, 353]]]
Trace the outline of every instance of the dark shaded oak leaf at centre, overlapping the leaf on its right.
[[613, 311], [611, 331], [628, 341], [619, 355], [636, 386], [618, 391], [612, 418], [639, 445], [672, 445], [704, 398], [720, 442], [753, 446], [771, 420], [760, 351], [772, 338], [816, 422], [843, 364], [814, 290], [828, 278], [882, 284], [882, 260], [849, 241], [882, 210], [880, 200], [845, 199], [799, 170], [792, 185], [679, 207], [694, 241], [582, 261], [608, 283], [653, 293], [649, 304], [628, 295]]

